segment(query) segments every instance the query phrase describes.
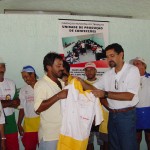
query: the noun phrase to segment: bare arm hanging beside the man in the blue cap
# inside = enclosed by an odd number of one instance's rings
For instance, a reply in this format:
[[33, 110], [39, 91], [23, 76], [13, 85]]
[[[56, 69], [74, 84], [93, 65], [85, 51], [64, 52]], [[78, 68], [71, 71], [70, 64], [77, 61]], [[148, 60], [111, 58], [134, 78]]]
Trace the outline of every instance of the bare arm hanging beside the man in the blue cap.
[[17, 123], [20, 136], [23, 136], [23, 134], [24, 134], [24, 129], [21, 125], [23, 118], [24, 118], [24, 109], [21, 108], [19, 110], [18, 123]]

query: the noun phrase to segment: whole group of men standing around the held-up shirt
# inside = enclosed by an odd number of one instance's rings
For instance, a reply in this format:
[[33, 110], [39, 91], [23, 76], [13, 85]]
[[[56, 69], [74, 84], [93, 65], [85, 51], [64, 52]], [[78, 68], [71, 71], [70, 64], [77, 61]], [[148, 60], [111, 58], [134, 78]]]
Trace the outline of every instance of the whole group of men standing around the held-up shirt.
[[[61, 145], [57, 147], [62, 130], [61, 100], [67, 98], [66, 87], [76, 79], [84, 91], [90, 90], [100, 102], [103, 121], [95, 125], [95, 117], [88, 122], [86, 148], [80, 145], [82, 148], [75, 149], [75, 146], [70, 150], [94, 150], [94, 136], [100, 150], [140, 150], [142, 131], [150, 150], [150, 74], [146, 72], [147, 63], [140, 57], [125, 62], [124, 49], [118, 43], [108, 45], [105, 56], [110, 69], [97, 78], [96, 65], [88, 62], [84, 67], [86, 80], [83, 80], [70, 75], [70, 65], [61, 55], [50, 52], [43, 59], [43, 78], [37, 79], [32, 66], [22, 68], [21, 76], [26, 84], [19, 93], [14, 82], [5, 78], [6, 64], [1, 58], [0, 149], [19, 150], [19, 133], [25, 150], [65, 150]], [[17, 122], [15, 109], [19, 109]], [[72, 128], [68, 128], [66, 132], [71, 132]]]

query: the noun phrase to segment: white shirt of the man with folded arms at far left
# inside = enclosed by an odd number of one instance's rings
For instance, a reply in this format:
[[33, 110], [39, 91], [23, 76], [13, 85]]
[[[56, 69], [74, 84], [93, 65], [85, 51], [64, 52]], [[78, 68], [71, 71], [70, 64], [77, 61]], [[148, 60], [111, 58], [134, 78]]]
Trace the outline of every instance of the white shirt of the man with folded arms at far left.
[[[4, 79], [3, 82], [0, 82], [0, 100], [12, 100], [15, 95], [15, 84], [10, 79]], [[14, 108], [4, 108], [6, 116], [12, 115]]]

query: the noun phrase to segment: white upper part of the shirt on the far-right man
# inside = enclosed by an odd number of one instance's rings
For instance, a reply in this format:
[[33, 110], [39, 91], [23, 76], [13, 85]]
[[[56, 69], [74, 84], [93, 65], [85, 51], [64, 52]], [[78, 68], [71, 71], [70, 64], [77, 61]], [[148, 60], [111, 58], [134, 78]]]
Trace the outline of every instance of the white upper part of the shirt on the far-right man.
[[150, 78], [141, 76], [137, 108], [150, 107]]

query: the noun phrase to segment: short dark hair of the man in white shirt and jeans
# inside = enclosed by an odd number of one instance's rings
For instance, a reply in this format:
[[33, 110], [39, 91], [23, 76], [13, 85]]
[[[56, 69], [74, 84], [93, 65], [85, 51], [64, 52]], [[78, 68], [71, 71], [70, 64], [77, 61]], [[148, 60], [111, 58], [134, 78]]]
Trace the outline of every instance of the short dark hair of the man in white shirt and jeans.
[[117, 54], [120, 54], [121, 52], [124, 52], [122, 46], [119, 45], [118, 43], [113, 43], [113, 44], [108, 45], [108, 46], [105, 48], [105, 52], [108, 51], [108, 50], [110, 50], [110, 49], [114, 49], [114, 51], [115, 51]]

